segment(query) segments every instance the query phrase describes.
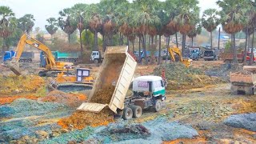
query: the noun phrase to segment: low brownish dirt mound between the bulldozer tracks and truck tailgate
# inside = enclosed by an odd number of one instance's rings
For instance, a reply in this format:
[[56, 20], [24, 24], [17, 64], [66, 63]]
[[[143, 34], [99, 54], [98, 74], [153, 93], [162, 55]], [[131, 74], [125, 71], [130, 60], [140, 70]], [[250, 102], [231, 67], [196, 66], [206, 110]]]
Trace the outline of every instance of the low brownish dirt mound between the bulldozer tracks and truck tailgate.
[[86, 101], [84, 94], [66, 94], [59, 90], [51, 91], [46, 97], [42, 98], [42, 102], [58, 102], [71, 107], [76, 107]]

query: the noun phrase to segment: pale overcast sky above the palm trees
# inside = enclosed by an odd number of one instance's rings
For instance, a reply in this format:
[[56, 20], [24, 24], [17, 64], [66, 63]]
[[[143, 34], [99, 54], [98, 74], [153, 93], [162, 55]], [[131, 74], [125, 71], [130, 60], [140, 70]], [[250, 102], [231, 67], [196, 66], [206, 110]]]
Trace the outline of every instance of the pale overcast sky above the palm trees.
[[[33, 14], [35, 26], [45, 30], [46, 19], [50, 17], [58, 18], [58, 12], [67, 7], [72, 7], [76, 3], [97, 3], [100, 0], [0, 0], [0, 6], [10, 6], [17, 18], [25, 14]], [[132, 0], [130, 0], [132, 1]], [[163, 1], [163, 0], [162, 0]], [[182, 1], [182, 0], [181, 0]], [[198, 0], [201, 13], [209, 8], [218, 8], [217, 0]]]

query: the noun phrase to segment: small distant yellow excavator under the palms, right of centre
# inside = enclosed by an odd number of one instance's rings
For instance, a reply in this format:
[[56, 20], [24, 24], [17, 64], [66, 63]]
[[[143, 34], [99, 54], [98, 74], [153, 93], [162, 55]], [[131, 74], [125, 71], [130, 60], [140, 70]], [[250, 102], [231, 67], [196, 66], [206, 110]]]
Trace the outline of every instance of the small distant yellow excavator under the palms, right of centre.
[[[178, 47], [169, 47], [168, 52], [174, 62], [182, 62], [186, 67], [192, 65], [193, 60], [190, 58], [182, 58], [182, 51]], [[178, 58], [176, 58], [174, 54], [176, 54]]]

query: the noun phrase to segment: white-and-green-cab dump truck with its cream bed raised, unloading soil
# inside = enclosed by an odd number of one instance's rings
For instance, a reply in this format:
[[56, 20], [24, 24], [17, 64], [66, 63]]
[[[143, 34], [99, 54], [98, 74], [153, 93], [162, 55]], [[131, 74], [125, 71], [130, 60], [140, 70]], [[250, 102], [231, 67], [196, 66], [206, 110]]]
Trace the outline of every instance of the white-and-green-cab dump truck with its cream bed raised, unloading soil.
[[[77, 110], [99, 113], [107, 107], [115, 114], [122, 115], [124, 119], [130, 119], [140, 117], [144, 108], [154, 106], [156, 111], [161, 109], [162, 99], [165, 99], [165, 90], [162, 90], [161, 87], [163, 86], [161, 77], [142, 76], [135, 78], [133, 82], [134, 94], [132, 97], [126, 97], [137, 66], [137, 62], [127, 50], [127, 46], [107, 47], [105, 58], [94, 82], [93, 90], [90, 92], [88, 102], [83, 102]], [[104, 89], [106, 86], [114, 86], [114, 91], [107, 95], [110, 97], [110, 102], [91, 102], [97, 97], [103, 97], [104, 94], [98, 94], [98, 92], [107, 91]]]

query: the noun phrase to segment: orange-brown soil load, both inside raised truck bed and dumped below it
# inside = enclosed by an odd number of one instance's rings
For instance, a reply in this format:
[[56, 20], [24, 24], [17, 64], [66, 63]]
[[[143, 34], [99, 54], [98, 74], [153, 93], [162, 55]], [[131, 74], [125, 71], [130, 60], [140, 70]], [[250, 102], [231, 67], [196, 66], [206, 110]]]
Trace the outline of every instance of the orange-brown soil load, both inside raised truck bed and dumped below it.
[[[110, 103], [114, 86], [103, 86], [101, 90], [94, 95], [90, 102], [108, 104]], [[104, 108], [99, 113], [77, 110], [68, 118], [62, 118], [58, 121], [58, 125], [62, 128], [74, 126], [78, 130], [82, 130], [86, 126], [106, 126], [110, 122], [114, 122], [114, 112], [108, 108]]]

